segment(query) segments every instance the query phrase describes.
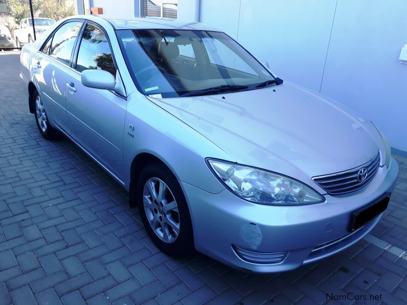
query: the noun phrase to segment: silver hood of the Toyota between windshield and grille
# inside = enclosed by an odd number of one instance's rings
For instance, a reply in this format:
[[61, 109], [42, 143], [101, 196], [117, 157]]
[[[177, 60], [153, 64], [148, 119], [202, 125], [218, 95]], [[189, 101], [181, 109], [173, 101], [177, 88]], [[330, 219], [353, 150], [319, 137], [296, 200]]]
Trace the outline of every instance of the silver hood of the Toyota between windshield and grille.
[[150, 100], [234, 161], [295, 177], [351, 169], [383, 149], [370, 121], [286, 81], [246, 92]]

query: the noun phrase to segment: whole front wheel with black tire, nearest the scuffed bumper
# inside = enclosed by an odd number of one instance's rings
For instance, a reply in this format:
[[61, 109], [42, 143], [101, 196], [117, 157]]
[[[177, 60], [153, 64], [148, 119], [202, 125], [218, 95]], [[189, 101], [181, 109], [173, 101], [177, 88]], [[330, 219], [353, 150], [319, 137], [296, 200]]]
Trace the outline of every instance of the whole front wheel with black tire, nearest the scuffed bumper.
[[188, 204], [172, 172], [157, 162], [149, 163], [140, 171], [136, 196], [141, 220], [155, 245], [171, 256], [191, 254]]

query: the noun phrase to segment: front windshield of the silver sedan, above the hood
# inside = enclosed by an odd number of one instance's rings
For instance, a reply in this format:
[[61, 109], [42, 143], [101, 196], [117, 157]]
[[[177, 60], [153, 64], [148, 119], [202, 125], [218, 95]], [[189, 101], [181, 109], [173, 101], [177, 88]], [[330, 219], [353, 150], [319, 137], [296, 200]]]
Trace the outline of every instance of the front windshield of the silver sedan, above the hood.
[[278, 84], [224, 33], [174, 29], [117, 33], [134, 81], [145, 95], [211, 95]]

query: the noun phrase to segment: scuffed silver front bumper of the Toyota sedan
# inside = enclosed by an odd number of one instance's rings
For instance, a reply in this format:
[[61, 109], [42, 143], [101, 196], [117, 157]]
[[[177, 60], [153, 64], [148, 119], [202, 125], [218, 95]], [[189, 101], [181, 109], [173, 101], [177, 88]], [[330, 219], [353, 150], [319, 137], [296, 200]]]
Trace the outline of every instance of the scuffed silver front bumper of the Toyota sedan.
[[[351, 234], [347, 228], [352, 212], [392, 192], [397, 174], [398, 164], [392, 158], [388, 169], [380, 167], [366, 187], [351, 195], [325, 194], [324, 203], [301, 206], [256, 204], [226, 189], [210, 194], [180, 182], [189, 204], [197, 251], [235, 268], [279, 272], [331, 256], [365, 236], [383, 214]], [[279, 263], [252, 263], [238, 256], [233, 245], [254, 252], [286, 254]]]

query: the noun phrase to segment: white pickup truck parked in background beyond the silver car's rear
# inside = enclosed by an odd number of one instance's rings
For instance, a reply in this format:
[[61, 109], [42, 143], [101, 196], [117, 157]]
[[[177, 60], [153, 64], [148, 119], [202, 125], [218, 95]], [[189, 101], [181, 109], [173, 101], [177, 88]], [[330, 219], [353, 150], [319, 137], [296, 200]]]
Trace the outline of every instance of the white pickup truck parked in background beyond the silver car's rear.
[[[51, 18], [34, 18], [36, 37], [38, 38], [54, 23], [55, 20]], [[25, 18], [20, 21], [20, 28], [14, 31], [14, 38], [16, 40], [16, 47], [34, 42], [33, 20], [31, 18]]]

